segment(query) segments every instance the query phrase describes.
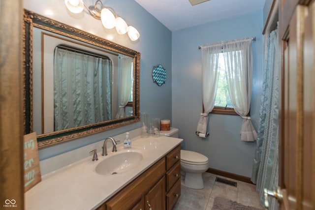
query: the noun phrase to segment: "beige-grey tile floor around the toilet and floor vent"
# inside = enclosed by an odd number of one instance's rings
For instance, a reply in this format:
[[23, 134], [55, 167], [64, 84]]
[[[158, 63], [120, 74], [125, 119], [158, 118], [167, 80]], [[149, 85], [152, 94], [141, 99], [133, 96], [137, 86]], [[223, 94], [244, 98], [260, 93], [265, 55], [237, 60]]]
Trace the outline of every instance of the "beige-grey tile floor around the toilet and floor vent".
[[[234, 187], [215, 181], [216, 177], [217, 175], [215, 174], [203, 173], [205, 188], [200, 190], [190, 189], [182, 185], [181, 197], [174, 210], [211, 210], [214, 198], [217, 196], [237, 201], [246, 206], [264, 209], [259, 205], [256, 185], [222, 177], [227, 180], [237, 181], [237, 187]], [[184, 181], [183, 177], [182, 181]]]

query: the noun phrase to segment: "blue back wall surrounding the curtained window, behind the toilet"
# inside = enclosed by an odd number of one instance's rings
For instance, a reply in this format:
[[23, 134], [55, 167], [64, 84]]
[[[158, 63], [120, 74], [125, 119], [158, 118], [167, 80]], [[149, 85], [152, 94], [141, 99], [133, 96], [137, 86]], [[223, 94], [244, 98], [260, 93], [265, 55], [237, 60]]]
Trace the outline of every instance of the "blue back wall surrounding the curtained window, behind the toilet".
[[206, 155], [209, 167], [252, 176], [255, 143], [240, 141], [239, 116], [209, 115], [210, 137], [195, 135], [202, 112], [201, 51], [199, 45], [255, 36], [251, 116], [255, 128], [259, 117], [263, 65], [262, 11], [208, 23], [172, 35], [172, 119], [184, 139], [183, 147]]

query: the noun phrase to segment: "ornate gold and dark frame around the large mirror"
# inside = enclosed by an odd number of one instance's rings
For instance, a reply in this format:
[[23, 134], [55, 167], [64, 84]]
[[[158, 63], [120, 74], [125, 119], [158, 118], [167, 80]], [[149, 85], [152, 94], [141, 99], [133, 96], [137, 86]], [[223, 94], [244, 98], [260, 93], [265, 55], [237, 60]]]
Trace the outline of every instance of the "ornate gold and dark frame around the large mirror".
[[[24, 10], [24, 133], [33, 132], [33, 66], [32, 66], [32, 43], [33, 28], [39, 28], [76, 39], [100, 48], [104, 48], [115, 53], [133, 58], [133, 115], [115, 120], [108, 120], [95, 124], [70, 128], [67, 130], [55, 131], [37, 135], [38, 148], [43, 148], [58, 143], [70, 141], [97, 132], [102, 132], [112, 128], [117, 128], [140, 120], [140, 53], [119, 44], [115, 44], [83, 30], [75, 29], [58, 21], [38, 15], [32, 11]], [[38, 41], [38, 40], [36, 40]]]

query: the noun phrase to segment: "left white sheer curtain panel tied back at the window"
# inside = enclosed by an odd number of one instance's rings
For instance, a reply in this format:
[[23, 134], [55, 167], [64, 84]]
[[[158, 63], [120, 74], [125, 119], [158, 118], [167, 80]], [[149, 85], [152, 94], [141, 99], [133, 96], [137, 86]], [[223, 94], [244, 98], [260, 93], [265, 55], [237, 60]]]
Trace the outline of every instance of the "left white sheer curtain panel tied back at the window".
[[204, 113], [200, 114], [197, 131], [202, 134], [207, 132], [208, 114], [214, 108], [218, 88], [218, 61], [220, 52], [221, 45], [211, 45], [201, 48], [202, 101]]

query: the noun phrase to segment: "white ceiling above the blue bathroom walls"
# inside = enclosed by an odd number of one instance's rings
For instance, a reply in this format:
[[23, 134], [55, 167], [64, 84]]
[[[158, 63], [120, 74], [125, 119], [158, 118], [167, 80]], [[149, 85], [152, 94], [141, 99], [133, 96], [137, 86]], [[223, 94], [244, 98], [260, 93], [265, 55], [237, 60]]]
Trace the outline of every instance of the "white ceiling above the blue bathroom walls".
[[266, 0], [135, 0], [171, 31], [262, 11]]

